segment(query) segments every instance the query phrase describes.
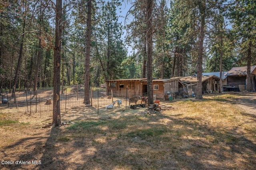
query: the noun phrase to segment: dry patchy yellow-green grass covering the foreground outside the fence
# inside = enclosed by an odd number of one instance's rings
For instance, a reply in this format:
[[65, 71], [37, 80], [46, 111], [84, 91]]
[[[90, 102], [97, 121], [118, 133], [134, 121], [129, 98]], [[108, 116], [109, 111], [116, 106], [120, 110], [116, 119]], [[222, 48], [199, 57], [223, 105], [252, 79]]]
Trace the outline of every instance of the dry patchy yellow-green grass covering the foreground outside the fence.
[[10, 122], [0, 125], [0, 160], [42, 161], [0, 168], [254, 169], [256, 114], [239, 107], [240, 100], [255, 104], [250, 94], [212, 94], [173, 102], [174, 110], [159, 114], [144, 114], [144, 109], [83, 113], [75, 125], [52, 130], [38, 129], [51, 119], [35, 124], [0, 113], [1, 122]]

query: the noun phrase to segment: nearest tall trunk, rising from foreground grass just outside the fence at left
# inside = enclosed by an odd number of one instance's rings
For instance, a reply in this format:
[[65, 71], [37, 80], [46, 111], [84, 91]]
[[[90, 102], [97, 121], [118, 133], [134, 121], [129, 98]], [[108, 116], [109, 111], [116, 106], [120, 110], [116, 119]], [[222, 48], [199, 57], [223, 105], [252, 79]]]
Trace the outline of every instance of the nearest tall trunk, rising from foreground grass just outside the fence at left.
[[56, 0], [54, 72], [53, 72], [53, 117], [52, 127], [60, 125], [60, 59], [62, 34], [62, 0]]

